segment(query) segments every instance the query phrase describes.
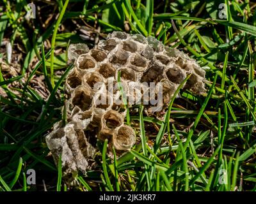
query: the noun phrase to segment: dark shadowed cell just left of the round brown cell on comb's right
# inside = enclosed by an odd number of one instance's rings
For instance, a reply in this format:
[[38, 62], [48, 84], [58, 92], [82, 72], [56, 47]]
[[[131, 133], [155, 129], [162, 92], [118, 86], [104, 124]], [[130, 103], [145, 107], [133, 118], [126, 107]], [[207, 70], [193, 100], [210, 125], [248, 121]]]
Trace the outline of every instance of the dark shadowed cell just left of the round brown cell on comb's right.
[[163, 74], [164, 66], [158, 62], [150, 62], [147, 71], [141, 77], [141, 82], [157, 82], [159, 75]]

